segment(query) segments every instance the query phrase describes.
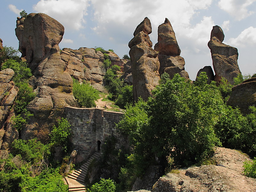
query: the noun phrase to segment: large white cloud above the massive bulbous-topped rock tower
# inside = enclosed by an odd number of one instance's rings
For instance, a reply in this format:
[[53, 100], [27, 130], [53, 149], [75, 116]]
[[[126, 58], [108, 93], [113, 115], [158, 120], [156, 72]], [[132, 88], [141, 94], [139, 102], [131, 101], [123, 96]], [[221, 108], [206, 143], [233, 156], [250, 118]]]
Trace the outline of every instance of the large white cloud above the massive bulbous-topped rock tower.
[[58, 20], [65, 28], [84, 28], [84, 15], [87, 15], [89, 0], [40, 0], [33, 9]]

